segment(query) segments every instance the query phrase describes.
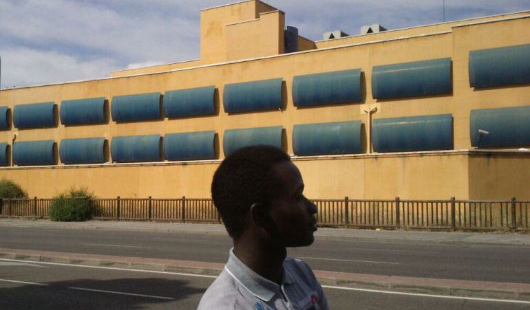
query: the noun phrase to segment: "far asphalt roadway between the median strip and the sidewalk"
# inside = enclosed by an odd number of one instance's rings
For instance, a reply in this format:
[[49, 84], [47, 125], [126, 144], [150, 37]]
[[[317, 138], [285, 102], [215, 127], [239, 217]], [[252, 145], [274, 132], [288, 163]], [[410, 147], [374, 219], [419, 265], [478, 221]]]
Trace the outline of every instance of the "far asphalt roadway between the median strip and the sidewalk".
[[[0, 228], [0, 247], [224, 263], [220, 234]], [[387, 276], [530, 283], [530, 246], [317, 237], [290, 249], [313, 269]]]

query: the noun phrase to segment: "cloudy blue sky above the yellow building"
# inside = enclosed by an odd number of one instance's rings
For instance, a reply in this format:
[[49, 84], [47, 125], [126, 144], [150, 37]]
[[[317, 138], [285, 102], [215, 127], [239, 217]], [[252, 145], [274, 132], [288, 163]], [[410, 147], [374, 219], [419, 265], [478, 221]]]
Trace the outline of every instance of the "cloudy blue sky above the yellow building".
[[[234, 0], [0, 0], [0, 88], [104, 78], [111, 71], [199, 58], [202, 8]], [[440, 23], [443, 0], [267, 0], [286, 25], [321, 40]], [[445, 20], [530, 10], [530, 0], [445, 0]]]

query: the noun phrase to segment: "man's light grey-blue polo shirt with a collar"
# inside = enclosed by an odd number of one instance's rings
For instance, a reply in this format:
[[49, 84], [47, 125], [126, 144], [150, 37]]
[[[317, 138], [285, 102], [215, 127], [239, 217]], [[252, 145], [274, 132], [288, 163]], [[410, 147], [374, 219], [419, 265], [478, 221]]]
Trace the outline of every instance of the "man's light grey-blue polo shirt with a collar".
[[224, 270], [200, 300], [199, 310], [328, 310], [322, 287], [306, 263], [286, 258], [282, 285], [259, 276], [230, 250]]

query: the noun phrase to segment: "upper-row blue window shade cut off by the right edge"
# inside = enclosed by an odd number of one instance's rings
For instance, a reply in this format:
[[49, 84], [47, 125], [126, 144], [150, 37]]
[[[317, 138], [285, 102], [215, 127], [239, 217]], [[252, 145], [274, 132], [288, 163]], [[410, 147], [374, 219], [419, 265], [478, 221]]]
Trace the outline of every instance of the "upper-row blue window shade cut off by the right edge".
[[468, 65], [471, 87], [530, 84], [530, 44], [471, 51]]

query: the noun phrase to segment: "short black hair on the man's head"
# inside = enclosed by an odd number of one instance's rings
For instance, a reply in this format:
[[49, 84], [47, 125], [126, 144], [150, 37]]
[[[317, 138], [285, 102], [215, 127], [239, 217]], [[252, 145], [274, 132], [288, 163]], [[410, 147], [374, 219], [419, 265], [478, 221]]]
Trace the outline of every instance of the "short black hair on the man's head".
[[270, 205], [283, 190], [271, 168], [289, 160], [289, 155], [274, 146], [247, 146], [226, 157], [215, 170], [211, 196], [232, 238], [244, 232], [253, 203]]

